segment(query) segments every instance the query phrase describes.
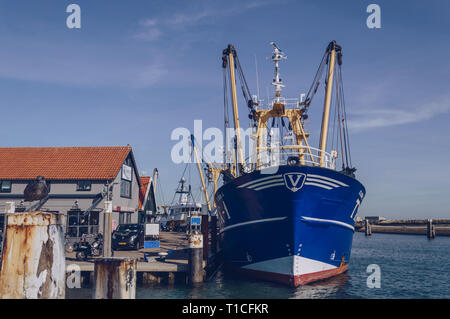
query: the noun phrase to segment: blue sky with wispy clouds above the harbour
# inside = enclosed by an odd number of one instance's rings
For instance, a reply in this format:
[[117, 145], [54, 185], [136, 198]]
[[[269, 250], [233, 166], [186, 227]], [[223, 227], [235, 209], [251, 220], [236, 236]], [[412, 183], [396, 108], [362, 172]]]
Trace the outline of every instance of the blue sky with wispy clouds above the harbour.
[[[66, 7], [81, 7], [81, 29]], [[366, 7], [381, 7], [368, 29]], [[172, 198], [184, 166], [174, 128], [223, 126], [221, 51], [238, 50], [261, 95], [281, 64], [286, 96], [311, 84], [326, 45], [344, 53], [360, 215], [450, 216], [450, 3], [445, 1], [0, 1], [2, 146], [133, 146], [139, 170], [160, 171]], [[317, 146], [322, 101], [310, 109]], [[242, 124], [246, 107], [240, 106]], [[39, 132], [39, 133], [36, 133]], [[191, 168], [193, 183], [195, 168]]]

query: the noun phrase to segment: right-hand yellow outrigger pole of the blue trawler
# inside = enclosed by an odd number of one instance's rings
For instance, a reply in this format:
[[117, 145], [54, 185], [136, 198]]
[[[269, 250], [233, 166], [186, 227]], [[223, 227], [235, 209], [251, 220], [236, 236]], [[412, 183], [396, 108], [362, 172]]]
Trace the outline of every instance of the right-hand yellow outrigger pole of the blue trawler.
[[328, 60], [328, 77], [327, 77], [327, 88], [325, 94], [325, 104], [323, 107], [323, 116], [322, 116], [322, 129], [320, 131], [320, 160], [319, 165], [321, 167], [325, 166], [325, 151], [327, 148], [327, 135], [328, 135], [328, 119], [330, 117], [330, 104], [331, 104], [331, 94], [333, 89], [333, 74], [334, 74], [334, 65], [336, 59], [336, 51], [341, 51], [341, 47], [336, 44], [336, 41], [330, 42], [328, 45], [327, 51], [329, 52], [329, 60]]

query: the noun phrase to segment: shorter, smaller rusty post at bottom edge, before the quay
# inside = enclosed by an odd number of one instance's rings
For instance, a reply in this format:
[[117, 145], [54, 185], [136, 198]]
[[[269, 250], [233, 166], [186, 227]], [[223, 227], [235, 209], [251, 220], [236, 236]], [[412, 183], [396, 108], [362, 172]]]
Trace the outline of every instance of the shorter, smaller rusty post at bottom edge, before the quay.
[[135, 258], [96, 258], [94, 298], [135, 299], [136, 268]]

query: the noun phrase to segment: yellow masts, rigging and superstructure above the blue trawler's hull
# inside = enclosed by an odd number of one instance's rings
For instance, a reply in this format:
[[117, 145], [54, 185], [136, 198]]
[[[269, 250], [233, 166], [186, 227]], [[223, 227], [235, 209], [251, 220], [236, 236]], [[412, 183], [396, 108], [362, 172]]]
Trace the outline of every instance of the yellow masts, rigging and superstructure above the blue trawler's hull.
[[[276, 161], [283, 157], [283, 160], [287, 159], [289, 165], [311, 165], [320, 166], [335, 169], [335, 160], [337, 159], [337, 151], [332, 151], [330, 154], [326, 153], [327, 147], [327, 135], [330, 117], [330, 107], [331, 100], [333, 98], [333, 80], [336, 82], [336, 104], [337, 109], [342, 112], [337, 112], [337, 118], [335, 122], [339, 123], [339, 132], [342, 132], [341, 137], [341, 148], [345, 145], [345, 152], [342, 151], [345, 156], [345, 161], [347, 167], [344, 167], [349, 173], [354, 171], [351, 168], [351, 158], [349, 156], [349, 142], [348, 133], [345, 122], [345, 100], [343, 96], [343, 86], [342, 86], [342, 49], [336, 44], [336, 41], [332, 41], [325, 50], [322, 57], [321, 63], [317, 70], [316, 76], [314, 77], [313, 85], [306, 94], [305, 100], [298, 100], [297, 98], [285, 98], [282, 96], [282, 89], [285, 87], [283, 81], [280, 78], [280, 67], [279, 62], [285, 60], [287, 57], [285, 53], [278, 48], [278, 46], [271, 42], [270, 45], [273, 47], [273, 53], [270, 56], [272, 62], [274, 63], [274, 79], [272, 85], [275, 87], [274, 98], [267, 101], [266, 105], [260, 105], [262, 100], [259, 100], [257, 96], [253, 96], [250, 93], [248, 85], [245, 81], [243, 71], [236, 53], [235, 48], [230, 44], [223, 50], [222, 53], [222, 67], [224, 73], [224, 106], [225, 106], [225, 127], [228, 127], [228, 90], [227, 83], [229, 80], [231, 87], [231, 97], [233, 101], [233, 116], [234, 116], [234, 128], [235, 128], [235, 143], [232, 149], [233, 161], [232, 164], [228, 166], [228, 169], [222, 169], [224, 181], [236, 178], [245, 172], [250, 172], [253, 170], [261, 170], [265, 167], [276, 166], [274, 160]], [[315, 96], [317, 89], [319, 87], [321, 77], [323, 72], [328, 65], [327, 76], [326, 76], [326, 92], [324, 101], [324, 110], [322, 116], [322, 126], [320, 133], [319, 148], [311, 147], [308, 143], [309, 133], [305, 131], [304, 121], [308, 118], [307, 111], [311, 105], [312, 99]], [[229, 79], [227, 79], [229, 68]], [[251, 136], [252, 139], [256, 141], [255, 143], [255, 153], [254, 157], [251, 156], [248, 163], [244, 160], [244, 154], [242, 149], [241, 132], [239, 127], [239, 115], [237, 106], [237, 91], [236, 91], [236, 76], [239, 77], [242, 93], [245, 100], [247, 101], [247, 106], [249, 108], [249, 119], [251, 120], [251, 125], [256, 128]], [[334, 79], [335, 78], [335, 79]], [[292, 142], [283, 143], [282, 141], [277, 141], [277, 138], [272, 136], [272, 132], [268, 132], [268, 121], [272, 119], [272, 127], [278, 122], [278, 125], [285, 125], [285, 119], [288, 119], [288, 134], [285, 138], [289, 137]], [[276, 121], [276, 119], [280, 119]], [[334, 134], [333, 129], [333, 134]], [[268, 137], [270, 137], [270, 142]], [[342, 141], [343, 138], [343, 141]], [[334, 135], [331, 139], [334, 145]], [[337, 141], [337, 137], [336, 137]], [[270, 143], [270, 145], [268, 145]], [[276, 145], [274, 143], [277, 143]], [[348, 150], [347, 150], [348, 148]], [[348, 154], [347, 154], [348, 153]], [[227, 156], [231, 154], [227, 153]], [[228, 158], [228, 157], [227, 157]], [[348, 162], [350, 159], [350, 163]], [[253, 160], [256, 160], [253, 162]], [[343, 160], [344, 162], [344, 160]], [[350, 164], [350, 166], [349, 166]], [[220, 169], [219, 169], [220, 170]], [[350, 172], [352, 171], [352, 172]], [[212, 176], [210, 180], [216, 181], [218, 174], [212, 174], [213, 170], [209, 169], [209, 174]]]

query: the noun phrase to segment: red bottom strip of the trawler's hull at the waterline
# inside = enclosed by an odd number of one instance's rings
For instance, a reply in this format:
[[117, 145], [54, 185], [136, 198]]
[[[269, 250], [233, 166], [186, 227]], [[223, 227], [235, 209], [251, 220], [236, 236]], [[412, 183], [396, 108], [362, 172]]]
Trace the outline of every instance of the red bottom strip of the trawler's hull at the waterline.
[[329, 269], [324, 271], [318, 271], [313, 272], [309, 274], [303, 274], [303, 275], [286, 275], [286, 274], [277, 274], [273, 272], [266, 272], [266, 271], [259, 271], [259, 270], [253, 270], [253, 269], [245, 269], [245, 268], [238, 268], [238, 267], [232, 267], [233, 270], [236, 270], [240, 272], [243, 275], [248, 275], [252, 278], [262, 279], [265, 281], [273, 281], [278, 282], [287, 286], [291, 287], [298, 287], [301, 285], [306, 285], [312, 282], [316, 282], [319, 280], [324, 280], [330, 277], [334, 277], [337, 275], [340, 275], [347, 271], [348, 264], [341, 265], [338, 268], [335, 269]]

